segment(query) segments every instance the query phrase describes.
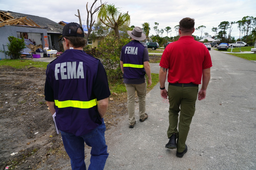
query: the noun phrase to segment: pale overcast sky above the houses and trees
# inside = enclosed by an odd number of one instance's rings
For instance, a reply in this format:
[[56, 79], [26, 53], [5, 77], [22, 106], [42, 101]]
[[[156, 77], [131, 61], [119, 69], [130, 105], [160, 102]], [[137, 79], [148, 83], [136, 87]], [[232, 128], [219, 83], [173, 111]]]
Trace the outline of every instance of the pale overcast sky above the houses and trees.
[[[98, 0], [100, 1], [100, 0]], [[18, 12], [22, 14], [35, 15], [45, 17], [52, 21], [59, 22], [77, 22], [79, 23], [77, 9], [80, 11], [82, 23], [86, 25], [87, 10], [86, 3], [90, 8], [94, 0], [84, 1], [70, 0], [0, 0], [0, 10]], [[119, 7], [120, 11], [127, 12], [131, 17], [131, 25], [142, 27], [141, 24], [149, 22], [151, 30], [150, 35], [156, 35], [153, 27], [158, 22], [158, 29], [171, 27], [172, 36], [176, 36], [174, 27], [179, 24], [182, 18], [190, 17], [195, 19], [195, 28], [200, 25], [206, 26], [204, 32], [210, 35], [215, 33], [211, 31], [212, 27], [218, 27], [222, 21], [238, 21], [245, 16], [256, 17], [255, 0], [226, 0], [226, 1], [201, 1], [201, 0], [139, 0], [139, 1], [122, 1], [108, 0], [103, 1], [107, 4], [114, 4]], [[97, 4], [99, 6], [99, 4]], [[163, 36], [167, 33], [164, 31]], [[193, 35], [201, 36], [200, 31], [195, 31]], [[168, 33], [170, 37], [170, 33]], [[235, 39], [239, 38], [239, 30], [237, 24], [232, 26], [231, 36]]]

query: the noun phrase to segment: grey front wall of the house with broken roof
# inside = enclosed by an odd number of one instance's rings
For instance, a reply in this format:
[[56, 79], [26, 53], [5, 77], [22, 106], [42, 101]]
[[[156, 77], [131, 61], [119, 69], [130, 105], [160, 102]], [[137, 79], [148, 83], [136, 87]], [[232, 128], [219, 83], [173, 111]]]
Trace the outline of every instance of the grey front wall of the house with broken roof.
[[[35, 34], [37, 36], [34, 39], [38, 39], [38, 34], [40, 34], [41, 41], [39, 42], [39, 44], [42, 44], [43, 48], [47, 46], [47, 43], [48, 43], [47, 42], [48, 41], [47, 29], [5, 25], [3, 27], [0, 27], [0, 50], [4, 50], [3, 45], [7, 45], [7, 43], [9, 43], [9, 41], [8, 41], [9, 36], [14, 36], [14, 37], [18, 38], [17, 32], [27, 32], [28, 35], [29, 35], [29, 33], [31, 33], [31, 35]], [[31, 37], [31, 39], [33, 40], [33, 37]], [[38, 40], [37, 40], [37, 42], [38, 42]], [[0, 53], [0, 58], [5, 59], [4, 53]]]

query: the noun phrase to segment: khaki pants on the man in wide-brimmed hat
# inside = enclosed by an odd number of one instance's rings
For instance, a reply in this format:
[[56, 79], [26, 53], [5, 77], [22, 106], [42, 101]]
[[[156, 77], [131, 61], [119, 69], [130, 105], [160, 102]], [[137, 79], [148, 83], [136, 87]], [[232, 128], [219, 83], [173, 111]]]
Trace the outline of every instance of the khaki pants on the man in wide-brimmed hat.
[[129, 124], [134, 124], [135, 118], [135, 90], [137, 91], [138, 100], [139, 100], [139, 116], [140, 119], [145, 115], [145, 106], [146, 106], [146, 94], [147, 94], [147, 83], [142, 84], [126, 84], [127, 90], [127, 108], [129, 115]]

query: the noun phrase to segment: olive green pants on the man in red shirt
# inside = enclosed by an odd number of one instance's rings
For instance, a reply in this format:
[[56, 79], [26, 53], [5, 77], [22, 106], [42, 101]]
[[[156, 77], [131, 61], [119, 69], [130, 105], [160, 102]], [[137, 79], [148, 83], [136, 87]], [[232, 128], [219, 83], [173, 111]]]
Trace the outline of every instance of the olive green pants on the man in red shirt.
[[[169, 128], [167, 136], [177, 135], [177, 152], [183, 152], [192, 117], [196, 110], [197, 87], [168, 86]], [[180, 112], [180, 116], [179, 116]], [[179, 117], [179, 126], [178, 126]], [[177, 129], [178, 126], [178, 129]]]

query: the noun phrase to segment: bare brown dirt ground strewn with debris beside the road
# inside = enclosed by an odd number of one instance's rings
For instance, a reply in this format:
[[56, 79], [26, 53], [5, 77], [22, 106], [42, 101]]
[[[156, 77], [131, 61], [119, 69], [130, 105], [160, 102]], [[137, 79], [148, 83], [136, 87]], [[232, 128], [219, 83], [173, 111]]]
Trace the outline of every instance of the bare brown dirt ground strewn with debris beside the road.
[[[44, 100], [45, 69], [0, 66], [0, 73], [0, 169], [71, 169]], [[124, 120], [126, 103], [126, 93], [111, 94], [104, 117], [107, 130]]]

